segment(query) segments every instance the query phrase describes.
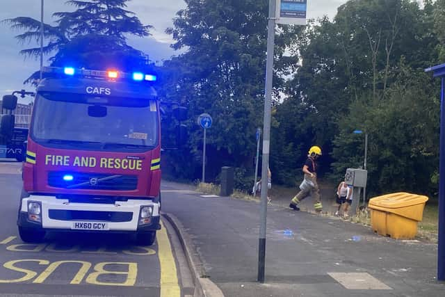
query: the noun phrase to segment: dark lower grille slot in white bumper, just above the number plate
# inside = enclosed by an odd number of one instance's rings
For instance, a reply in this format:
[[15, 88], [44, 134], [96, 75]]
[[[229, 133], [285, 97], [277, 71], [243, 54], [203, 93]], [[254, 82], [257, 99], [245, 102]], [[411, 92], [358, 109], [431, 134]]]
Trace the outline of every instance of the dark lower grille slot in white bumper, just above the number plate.
[[130, 222], [133, 213], [129, 211], [83, 211], [49, 209], [49, 218], [53, 220], [102, 220], [106, 222]]

